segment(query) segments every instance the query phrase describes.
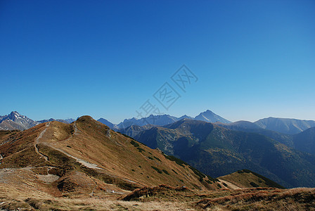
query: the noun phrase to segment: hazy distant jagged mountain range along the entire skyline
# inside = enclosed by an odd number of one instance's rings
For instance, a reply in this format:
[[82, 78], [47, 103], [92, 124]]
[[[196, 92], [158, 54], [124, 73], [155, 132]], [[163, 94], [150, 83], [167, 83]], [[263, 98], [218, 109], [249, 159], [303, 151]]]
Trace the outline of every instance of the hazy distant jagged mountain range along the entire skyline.
[[[306, 129], [311, 127], [315, 127], [314, 120], [295, 120], [288, 118], [276, 118], [276, 117], [268, 117], [261, 120], [257, 120], [256, 122], [248, 122], [248, 121], [238, 121], [238, 122], [230, 122], [229, 120], [220, 117], [219, 115], [213, 113], [211, 110], [206, 110], [203, 113], [195, 117], [189, 117], [188, 115], [183, 115], [181, 117], [174, 117], [171, 115], [150, 115], [148, 117], [143, 117], [141, 119], [131, 118], [125, 119], [120, 124], [113, 124], [112, 122], [105, 120], [104, 118], [98, 119], [98, 122], [102, 122], [103, 124], [108, 125], [110, 129], [114, 129], [115, 131], [127, 131], [127, 128], [131, 125], [144, 126], [144, 125], [155, 125], [155, 126], [163, 126], [166, 124], [172, 124], [179, 120], [189, 119], [189, 120], [201, 120], [204, 122], [212, 122], [218, 124], [222, 127], [226, 127], [228, 129], [234, 130], [262, 130], [262, 131], [274, 131], [279, 132], [281, 134], [298, 134]], [[0, 116], [0, 129], [29, 129], [34, 125], [43, 122], [51, 122], [55, 119], [51, 118], [49, 120], [31, 120], [30, 118], [20, 115], [18, 112], [13, 111], [9, 115]], [[58, 122], [71, 123], [74, 122], [75, 119], [67, 119], [67, 120], [56, 120]], [[140, 128], [139, 128], [140, 129]], [[254, 132], [253, 131], [253, 132]], [[125, 132], [126, 133], [126, 132]]]

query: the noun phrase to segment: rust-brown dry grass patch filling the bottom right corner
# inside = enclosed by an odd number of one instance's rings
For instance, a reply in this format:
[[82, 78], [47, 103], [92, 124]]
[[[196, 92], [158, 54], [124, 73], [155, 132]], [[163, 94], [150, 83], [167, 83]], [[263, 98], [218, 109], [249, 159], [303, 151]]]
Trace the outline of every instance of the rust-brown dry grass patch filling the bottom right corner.
[[315, 210], [315, 189], [249, 188], [229, 196], [205, 198], [196, 205], [210, 210]]

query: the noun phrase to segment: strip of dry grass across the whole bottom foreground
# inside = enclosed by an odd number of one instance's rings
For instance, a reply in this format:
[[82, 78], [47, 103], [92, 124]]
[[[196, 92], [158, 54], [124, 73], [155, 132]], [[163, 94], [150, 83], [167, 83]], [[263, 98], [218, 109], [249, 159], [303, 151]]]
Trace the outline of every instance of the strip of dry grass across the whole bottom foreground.
[[[16, 191], [16, 190], [15, 190]], [[78, 198], [1, 191], [1, 210], [315, 210], [315, 188], [191, 191], [156, 186]]]

